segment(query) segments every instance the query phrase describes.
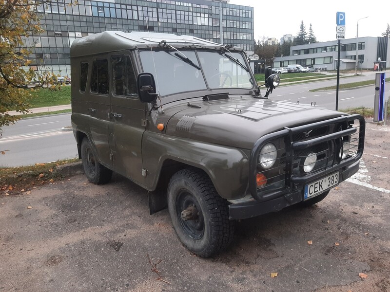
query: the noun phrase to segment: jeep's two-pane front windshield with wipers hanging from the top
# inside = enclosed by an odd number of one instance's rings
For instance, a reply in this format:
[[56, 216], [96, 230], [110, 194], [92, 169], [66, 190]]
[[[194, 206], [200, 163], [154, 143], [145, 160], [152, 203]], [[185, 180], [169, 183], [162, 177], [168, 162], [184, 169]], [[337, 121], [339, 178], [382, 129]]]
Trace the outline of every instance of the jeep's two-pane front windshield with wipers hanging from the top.
[[152, 56], [151, 51], [141, 51], [140, 59], [143, 71], [155, 76], [160, 96], [208, 88], [253, 87], [240, 53], [185, 50], [178, 53], [165, 50], [154, 51]]

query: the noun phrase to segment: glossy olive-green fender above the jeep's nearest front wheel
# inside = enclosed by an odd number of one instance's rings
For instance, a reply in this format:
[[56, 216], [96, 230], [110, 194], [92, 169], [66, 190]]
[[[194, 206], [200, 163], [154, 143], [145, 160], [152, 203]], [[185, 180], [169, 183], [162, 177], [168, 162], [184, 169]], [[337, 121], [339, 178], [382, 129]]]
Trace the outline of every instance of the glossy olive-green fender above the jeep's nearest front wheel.
[[246, 194], [249, 162], [242, 149], [145, 132], [142, 153], [149, 153], [143, 155], [148, 190], [156, 189], [164, 162], [173, 160], [204, 170], [225, 199], [238, 199]]

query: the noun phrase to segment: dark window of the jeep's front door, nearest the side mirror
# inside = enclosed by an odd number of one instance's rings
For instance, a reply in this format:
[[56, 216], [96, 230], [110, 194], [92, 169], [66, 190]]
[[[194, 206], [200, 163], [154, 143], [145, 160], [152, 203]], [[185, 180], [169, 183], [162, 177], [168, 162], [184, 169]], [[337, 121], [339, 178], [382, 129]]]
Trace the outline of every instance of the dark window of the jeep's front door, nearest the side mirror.
[[137, 95], [136, 76], [128, 55], [118, 55], [111, 58], [113, 70], [114, 94], [123, 96]]

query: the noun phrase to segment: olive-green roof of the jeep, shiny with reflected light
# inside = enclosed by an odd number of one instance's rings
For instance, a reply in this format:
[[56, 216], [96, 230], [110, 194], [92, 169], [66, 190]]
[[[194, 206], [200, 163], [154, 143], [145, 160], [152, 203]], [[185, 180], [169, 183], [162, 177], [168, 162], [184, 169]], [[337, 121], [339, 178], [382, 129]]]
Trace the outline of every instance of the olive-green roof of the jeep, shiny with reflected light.
[[[192, 36], [163, 33], [107, 31], [87, 37], [77, 38], [71, 46], [70, 55], [84, 56], [129, 49], [158, 48], [161, 41], [173, 47], [197, 45], [208, 49], [220, 49], [222, 45]], [[234, 47], [229, 50], [242, 51]]]

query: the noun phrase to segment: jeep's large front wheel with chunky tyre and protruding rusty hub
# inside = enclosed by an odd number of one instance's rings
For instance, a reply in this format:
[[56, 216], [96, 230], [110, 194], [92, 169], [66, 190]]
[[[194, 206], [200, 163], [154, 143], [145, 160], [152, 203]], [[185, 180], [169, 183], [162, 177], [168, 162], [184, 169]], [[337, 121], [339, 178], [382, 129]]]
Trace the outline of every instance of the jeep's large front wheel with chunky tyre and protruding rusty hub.
[[213, 256], [233, 240], [228, 204], [200, 170], [183, 169], [171, 178], [168, 210], [180, 241], [198, 256]]

